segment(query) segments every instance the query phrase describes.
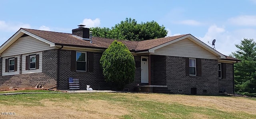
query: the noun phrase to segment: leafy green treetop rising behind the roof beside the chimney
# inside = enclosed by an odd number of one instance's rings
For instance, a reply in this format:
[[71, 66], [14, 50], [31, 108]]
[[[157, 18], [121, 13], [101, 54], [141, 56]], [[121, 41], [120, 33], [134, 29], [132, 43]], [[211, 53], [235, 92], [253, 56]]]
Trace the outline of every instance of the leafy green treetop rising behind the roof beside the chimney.
[[111, 29], [103, 27], [90, 28], [93, 36], [105, 37], [110, 39], [122, 39], [131, 41], [142, 41], [165, 37], [168, 31], [156, 21], [137, 23], [136, 20], [126, 18]]

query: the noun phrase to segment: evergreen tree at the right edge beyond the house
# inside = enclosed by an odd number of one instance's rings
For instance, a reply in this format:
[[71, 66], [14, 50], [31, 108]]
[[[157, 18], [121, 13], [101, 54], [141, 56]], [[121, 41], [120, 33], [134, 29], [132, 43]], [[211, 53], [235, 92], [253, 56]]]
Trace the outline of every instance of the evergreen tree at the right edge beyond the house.
[[242, 61], [234, 64], [235, 91], [252, 96], [256, 93], [256, 43], [244, 38], [236, 47], [232, 55]]

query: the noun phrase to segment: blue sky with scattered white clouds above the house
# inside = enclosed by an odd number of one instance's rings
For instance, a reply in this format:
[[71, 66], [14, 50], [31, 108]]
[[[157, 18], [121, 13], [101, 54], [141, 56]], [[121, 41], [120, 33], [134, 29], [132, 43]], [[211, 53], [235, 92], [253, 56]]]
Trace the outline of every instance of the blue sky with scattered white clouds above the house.
[[216, 39], [224, 55], [256, 39], [256, 0], [0, 0], [0, 45], [20, 27], [71, 33], [79, 24], [112, 27], [125, 18], [156, 21], [168, 36]]

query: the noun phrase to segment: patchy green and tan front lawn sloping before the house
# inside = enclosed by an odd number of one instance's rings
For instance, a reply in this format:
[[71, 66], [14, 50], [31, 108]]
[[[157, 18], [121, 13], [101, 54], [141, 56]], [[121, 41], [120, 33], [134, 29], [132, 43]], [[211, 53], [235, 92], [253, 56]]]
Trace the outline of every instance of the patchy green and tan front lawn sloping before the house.
[[[60, 93], [0, 96], [0, 118], [254, 119], [256, 100], [229, 96]], [[32, 113], [33, 112], [33, 113]]]

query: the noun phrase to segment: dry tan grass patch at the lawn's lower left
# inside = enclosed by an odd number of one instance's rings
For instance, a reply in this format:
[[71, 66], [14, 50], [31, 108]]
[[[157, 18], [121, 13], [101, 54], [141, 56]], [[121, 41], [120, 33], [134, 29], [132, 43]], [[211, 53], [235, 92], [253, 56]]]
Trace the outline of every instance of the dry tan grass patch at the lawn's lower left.
[[44, 106], [6, 106], [1, 104], [0, 110], [15, 112], [15, 115], [0, 115], [0, 119], [119, 119], [120, 116], [128, 114], [124, 107], [103, 100], [65, 103], [43, 100], [41, 103]]

